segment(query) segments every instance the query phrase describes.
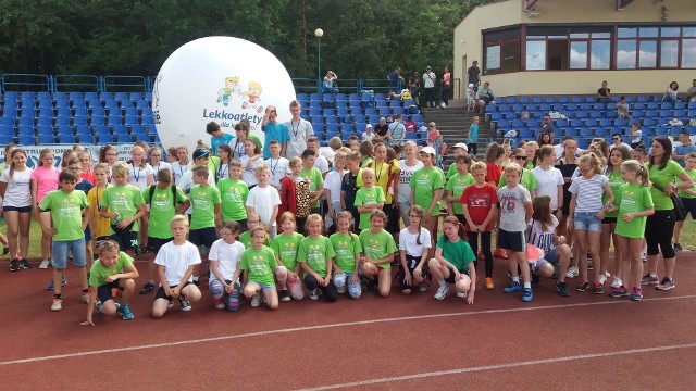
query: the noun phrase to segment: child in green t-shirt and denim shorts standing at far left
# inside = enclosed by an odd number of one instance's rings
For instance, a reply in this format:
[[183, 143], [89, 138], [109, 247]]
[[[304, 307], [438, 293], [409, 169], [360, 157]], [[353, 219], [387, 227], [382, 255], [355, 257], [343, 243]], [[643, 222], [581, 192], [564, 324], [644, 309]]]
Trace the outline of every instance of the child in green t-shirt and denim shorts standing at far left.
[[[77, 267], [78, 281], [82, 287], [82, 301], [87, 303], [87, 254], [85, 252], [85, 231], [83, 229], [83, 210], [89, 206], [87, 195], [82, 191], [74, 191], [78, 176], [72, 171], [62, 172], [59, 177], [60, 190], [46, 194], [34, 209], [34, 217], [41, 226], [41, 231], [53, 238], [53, 303], [51, 311], [63, 308], [61, 297], [61, 278], [67, 266], [67, 255], [72, 252], [73, 264]], [[41, 212], [49, 212], [51, 220], [47, 223]]]

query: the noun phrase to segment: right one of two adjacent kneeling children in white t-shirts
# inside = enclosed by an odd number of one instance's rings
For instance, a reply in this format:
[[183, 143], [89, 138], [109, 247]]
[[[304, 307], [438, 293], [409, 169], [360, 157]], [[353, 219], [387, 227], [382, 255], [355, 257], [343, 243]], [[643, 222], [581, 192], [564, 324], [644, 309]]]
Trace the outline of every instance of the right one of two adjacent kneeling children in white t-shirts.
[[208, 289], [213, 298], [213, 305], [229, 311], [239, 310], [239, 281], [233, 279], [245, 248], [236, 238], [239, 235], [239, 224], [236, 222], [226, 223], [220, 230], [222, 239], [215, 240], [210, 247], [208, 260], [210, 261], [210, 279]]

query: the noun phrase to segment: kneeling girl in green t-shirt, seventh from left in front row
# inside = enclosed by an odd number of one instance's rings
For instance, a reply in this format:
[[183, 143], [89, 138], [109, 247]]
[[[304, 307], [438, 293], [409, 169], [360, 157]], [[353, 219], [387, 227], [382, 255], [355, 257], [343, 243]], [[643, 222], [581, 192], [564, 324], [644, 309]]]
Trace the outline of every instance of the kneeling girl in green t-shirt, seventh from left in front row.
[[334, 216], [336, 225], [336, 234], [332, 235], [328, 240], [334, 247], [336, 257], [334, 258], [334, 285], [338, 293], [346, 293], [348, 286], [348, 294], [352, 299], [360, 299], [362, 289], [360, 287], [360, 255], [362, 245], [360, 238], [350, 230], [352, 214], [348, 211], [338, 212]]

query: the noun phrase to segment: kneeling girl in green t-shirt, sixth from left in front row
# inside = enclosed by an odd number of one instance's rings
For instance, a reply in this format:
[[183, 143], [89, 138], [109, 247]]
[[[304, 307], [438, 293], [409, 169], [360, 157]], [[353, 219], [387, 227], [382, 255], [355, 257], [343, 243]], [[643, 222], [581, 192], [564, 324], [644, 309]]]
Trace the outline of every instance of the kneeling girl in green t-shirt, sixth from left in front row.
[[323, 226], [322, 216], [313, 213], [307, 217], [309, 235], [300, 241], [297, 262], [304, 270], [304, 287], [309, 290], [309, 298], [318, 300], [321, 291], [326, 301], [333, 303], [338, 297], [331, 279], [336, 253], [331, 240], [322, 235]]

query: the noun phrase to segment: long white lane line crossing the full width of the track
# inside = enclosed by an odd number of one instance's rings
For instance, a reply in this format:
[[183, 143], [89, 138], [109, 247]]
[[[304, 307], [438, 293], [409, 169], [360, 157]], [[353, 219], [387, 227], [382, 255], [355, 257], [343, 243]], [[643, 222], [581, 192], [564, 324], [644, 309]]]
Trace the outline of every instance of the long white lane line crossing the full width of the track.
[[[696, 299], [696, 294], [680, 295], [680, 297], [672, 297], [672, 298], [643, 299], [643, 301], [644, 302], [654, 302], [654, 301], [655, 302], [657, 302], [657, 301], [662, 302], [662, 301], [671, 301], [671, 300], [689, 300], [689, 299]], [[455, 317], [455, 316], [502, 314], [502, 313], [514, 313], [514, 312], [525, 312], [525, 311], [562, 310], [562, 308], [572, 308], [572, 307], [584, 307], [584, 306], [594, 306], [594, 305], [613, 305], [613, 304], [636, 305], [636, 303], [632, 303], [632, 302], [629, 302], [629, 301], [606, 301], [606, 302], [596, 302], [596, 303], [558, 304], [558, 305], [546, 305], [546, 306], [484, 310], [484, 311], [475, 311], [475, 312], [458, 312], [458, 313], [446, 313], [446, 314], [401, 316], [401, 317], [383, 318], [383, 319], [344, 321], [344, 323], [327, 324], [327, 325], [301, 326], [301, 327], [294, 327], [294, 328], [289, 328], [289, 329], [277, 329], [277, 330], [245, 332], [245, 333], [233, 335], [233, 336], [209, 337], [209, 338], [199, 338], [199, 339], [174, 341], [174, 342], [152, 343], [152, 344], [145, 344], [145, 345], [102, 349], [102, 350], [95, 350], [95, 351], [74, 352], [74, 353], [65, 353], [65, 354], [54, 354], [54, 355], [37, 356], [37, 357], [29, 357], [29, 358], [9, 360], [9, 361], [0, 362], [0, 366], [13, 365], [13, 364], [36, 363], [36, 362], [61, 360], [61, 358], [83, 357], [83, 356], [99, 355], [99, 354], [110, 354], [110, 353], [119, 353], [119, 352], [133, 352], [133, 351], [158, 349], [158, 348], [181, 346], [181, 345], [188, 345], [188, 344], [217, 342], [217, 341], [244, 339], [244, 338], [251, 338], [251, 337], [283, 335], [283, 333], [290, 333], [290, 332], [298, 332], [298, 331], [322, 330], [322, 329], [332, 329], [332, 328], [339, 328], [339, 327], [363, 326], [363, 325], [374, 325], [374, 324], [403, 321], [403, 320], [435, 319], [435, 318]]]

